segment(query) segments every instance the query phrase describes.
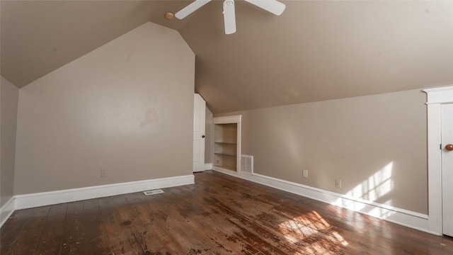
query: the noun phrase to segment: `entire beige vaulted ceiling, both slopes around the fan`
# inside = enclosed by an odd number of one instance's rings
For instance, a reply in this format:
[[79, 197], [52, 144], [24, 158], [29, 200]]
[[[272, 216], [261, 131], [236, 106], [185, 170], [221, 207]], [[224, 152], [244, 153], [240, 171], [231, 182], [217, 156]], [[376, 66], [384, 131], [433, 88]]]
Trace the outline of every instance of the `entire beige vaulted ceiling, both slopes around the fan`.
[[183, 21], [190, 1], [4, 1], [1, 76], [17, 86], [147, 21], [196, 55], [195, 91], [214, 113], [453, 84], [453, 1], [282, 1], [282, 16], [222, 1]]

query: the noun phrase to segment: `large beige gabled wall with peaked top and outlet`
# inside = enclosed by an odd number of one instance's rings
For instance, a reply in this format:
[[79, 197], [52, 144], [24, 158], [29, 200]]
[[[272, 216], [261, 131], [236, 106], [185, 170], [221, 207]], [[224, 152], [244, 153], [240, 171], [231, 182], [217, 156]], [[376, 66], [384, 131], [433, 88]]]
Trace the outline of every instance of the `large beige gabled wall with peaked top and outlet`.
[[179, 33], [145, 23], [23, 87], [15, 194], [192, 174], [194, 75]]

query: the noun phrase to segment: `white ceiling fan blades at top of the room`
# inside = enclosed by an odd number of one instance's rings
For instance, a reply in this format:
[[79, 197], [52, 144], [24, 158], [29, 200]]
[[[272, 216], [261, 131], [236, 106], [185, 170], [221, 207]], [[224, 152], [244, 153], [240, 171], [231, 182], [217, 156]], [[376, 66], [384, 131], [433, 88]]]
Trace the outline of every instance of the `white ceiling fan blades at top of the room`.
[[[183, 9], [178, 11], [175, 16], [176, 18], [183, 19], [187, 17], [190, 13], [197, 11], [205, 4], [209, 3], [212, 0], [195, 0], [188, 6], [185, 6]], [[270, 13], [274, 13], [277, 16], [285, 11], [285, 4], [280, 3], [276, 0], [244, 0], [250, 4], [263, 8]], [[234, 13], [234, 0], [225, 0], [224, 1], [224, 24], [225, 24], [225, 33], [226, 35], [236, 32], [236, 14]]]

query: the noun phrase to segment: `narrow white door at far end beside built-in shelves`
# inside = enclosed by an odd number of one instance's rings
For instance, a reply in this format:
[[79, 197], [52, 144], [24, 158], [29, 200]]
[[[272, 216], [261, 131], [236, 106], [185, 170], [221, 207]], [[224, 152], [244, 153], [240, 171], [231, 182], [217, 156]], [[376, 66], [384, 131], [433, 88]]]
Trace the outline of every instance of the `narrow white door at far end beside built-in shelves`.
[[193, 171], [205, 170], [206, 102], [195, 94], [193, 107]]

